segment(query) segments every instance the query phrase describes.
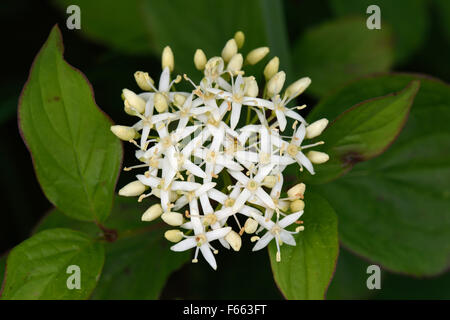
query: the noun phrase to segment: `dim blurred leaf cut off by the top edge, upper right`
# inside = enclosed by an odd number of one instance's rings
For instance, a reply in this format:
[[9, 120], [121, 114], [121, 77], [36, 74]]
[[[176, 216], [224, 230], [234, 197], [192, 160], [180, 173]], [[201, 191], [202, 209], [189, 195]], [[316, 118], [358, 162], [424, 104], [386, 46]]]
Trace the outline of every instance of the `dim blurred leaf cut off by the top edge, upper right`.
[[[377, 5], [381, 11], [381, 30], [392, 27], [395, 60], [405, 62], [423, 44], [428, 31], [428, 8], [425, 0], [330, 0], [337, 16], [359, 15], [367, 19], [367, 7]], [[361, 28], [366, 26], [361, 26]]]

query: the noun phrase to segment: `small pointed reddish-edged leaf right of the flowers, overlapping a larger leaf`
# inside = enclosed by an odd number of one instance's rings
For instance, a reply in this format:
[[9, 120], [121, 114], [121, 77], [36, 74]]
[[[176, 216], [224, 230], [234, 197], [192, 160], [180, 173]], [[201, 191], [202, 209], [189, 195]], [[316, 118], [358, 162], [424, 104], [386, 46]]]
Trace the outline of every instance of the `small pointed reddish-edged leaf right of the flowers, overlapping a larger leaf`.
[[385, 151], [403, 128], [419, 86], [413, 81], [398, 93], [366, 100], [339, 115], [319, 137], [325, 144], [317, 150], [328, 153], [330, 160], [316, 166], [315, 176], [305, 174], [303, 180], [333, 180]]

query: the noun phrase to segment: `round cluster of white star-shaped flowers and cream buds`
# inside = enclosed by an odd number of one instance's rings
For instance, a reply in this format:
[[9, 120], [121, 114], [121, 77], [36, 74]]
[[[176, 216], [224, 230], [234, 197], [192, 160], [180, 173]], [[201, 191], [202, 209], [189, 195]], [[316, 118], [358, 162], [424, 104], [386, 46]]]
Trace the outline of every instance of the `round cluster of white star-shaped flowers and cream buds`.
[[[206, 58], [202, 50], [194, 55], [195, 67], [203, 71], [203, 79], [191, 92], [175, 89], [183, 78], [171, 81], [174, 56], [170, 47], [162, 54], [159, 84], [146, 72], [138, 71], [135, 79], [145, 92], [135, 94], [124, 89], [125, 112], [139, 118], [132, 127], [112, 126], [112, 132], [122, 140], [138, 147], [136, 158], [145, 168], [137, 180], [123, 187], [122, 196], [139, 196], [139, 202], [156, 196], [160, 203], [152, 205], [142, 216], [143, 221], [158, 217], [170, 226], [165, 237], [174, 243], [173, 251], [196, 248], [192, 262], [200, 251], [216, 269], [211, 245], [218, 240], [222, 246], [238, 251], [241, 236], [251, 237], [253, 251], [264, 248], [275, 239], [280, 261], [280, 246], [295, 245], [293, 234], [302, 230], [303, 194], [305, 185], [299, 183], [283, 194], [283, 171], [294, 163], [300, 170], [314, 174], [313, 163], [328, 160], [318, 151], [305, 149], [323, 142], [302, 145], [304, 139], [321, 134], [328, 124], [321, 119], [312, 124], [298, 114], [300, 107], [288, 108], [311, 83], [301, 78], [281, 94], [285, 73], [278, 71], [279, 59], [274, 57], [264, 68], [265, 87], [262, 97], [253, 76], [245, 75], [243, 65], [254, 65], [269, 52], [257, 48], [244, 60], [239, 48], [244, 34], [237, 32], [222, 50], [221, 57]], [[245, 75], [245, 76], [244, 76]], [[293, 134], [281, 135], [288, 119], [292, 119]], [[147, 192], [147, 193], [146, 193]], [[241, 226], [237, 215], [246, 217]], [[228, 226], [233, 217], [239, 230]], [[294, 231], [288, 227], [296, 224]], [[181, 231], [184, 230], [184, 231]]]

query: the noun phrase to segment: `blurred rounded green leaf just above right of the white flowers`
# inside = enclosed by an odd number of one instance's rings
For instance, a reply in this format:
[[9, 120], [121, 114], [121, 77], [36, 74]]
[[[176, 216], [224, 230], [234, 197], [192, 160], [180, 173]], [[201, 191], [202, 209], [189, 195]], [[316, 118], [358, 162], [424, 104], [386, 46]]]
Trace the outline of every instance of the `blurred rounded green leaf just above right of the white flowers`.
[[393, 60], [388, 27], [369, 30], [362, 18], [343, 18], [306, 31], [293, 52], [296, 71], [312, 79], [308, 92], [321, 96], [365, 74], [387, 71]]

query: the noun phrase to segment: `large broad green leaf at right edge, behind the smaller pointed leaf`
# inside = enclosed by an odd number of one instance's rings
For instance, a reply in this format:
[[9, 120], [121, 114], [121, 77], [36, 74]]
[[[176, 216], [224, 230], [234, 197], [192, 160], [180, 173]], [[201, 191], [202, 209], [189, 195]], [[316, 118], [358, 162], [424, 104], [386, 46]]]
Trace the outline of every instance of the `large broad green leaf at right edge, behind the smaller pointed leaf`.
[[385, 268], [432, 275], [450, 262], [450, 88], [418, 75], [355, 81], [321, 103], [313, 118], [419, 79], [406, 126], [382, 155], [317, 186], [339, 216], [342, 243]]

